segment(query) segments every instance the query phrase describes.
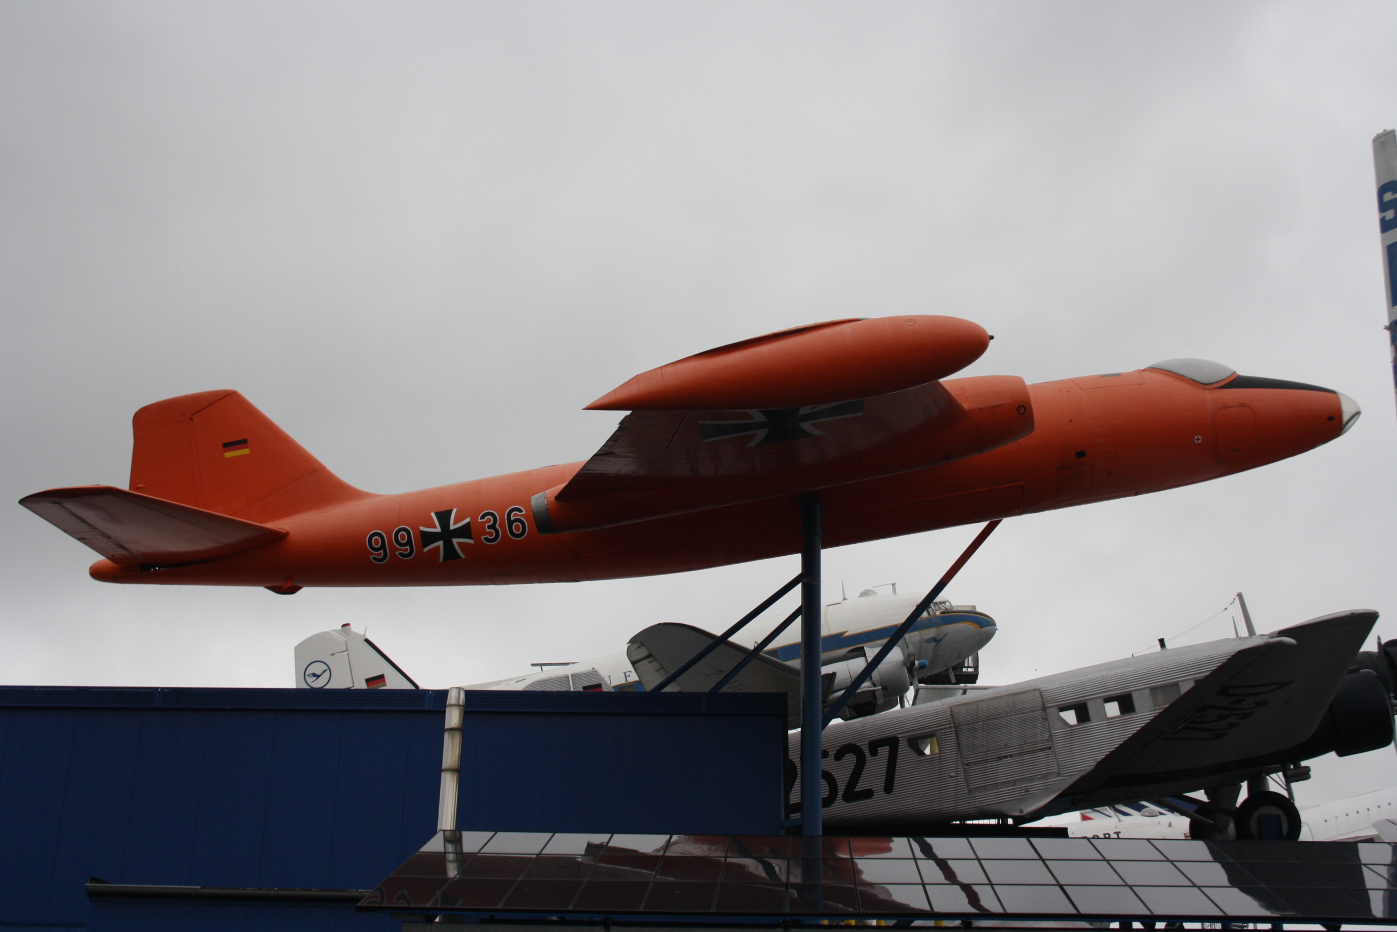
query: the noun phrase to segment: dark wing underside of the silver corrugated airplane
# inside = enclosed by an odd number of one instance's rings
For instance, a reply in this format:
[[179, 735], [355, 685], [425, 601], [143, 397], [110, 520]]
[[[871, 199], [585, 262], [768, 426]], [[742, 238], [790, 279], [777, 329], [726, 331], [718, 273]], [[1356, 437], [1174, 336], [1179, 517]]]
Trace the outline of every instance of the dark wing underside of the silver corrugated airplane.
[[1319, 727], [1376, 621], [1366, 610], [1324, 615], [1236, 652], [1062, 797], [1094, 805], [1094, 792], [1115, 798], [1118, 787], [1160, 795], [1298, 745]]

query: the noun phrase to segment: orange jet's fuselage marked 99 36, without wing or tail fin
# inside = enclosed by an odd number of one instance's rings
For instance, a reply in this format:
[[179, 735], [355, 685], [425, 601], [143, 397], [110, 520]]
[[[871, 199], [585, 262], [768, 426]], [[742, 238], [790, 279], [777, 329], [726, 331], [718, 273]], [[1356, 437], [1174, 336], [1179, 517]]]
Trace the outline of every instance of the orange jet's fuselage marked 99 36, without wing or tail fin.
[[[947, 379], [954, 391], [960, 379]], [[1206, 388], [1137, 370], [1028, 386], [1034, 430], [965, 459], [819, 493], [824, 544], [838, 547], [1189, 486], [1305, 452], [1340, 435], [1340, 396], [1288, 388]], [[531, 498], [581, 463], [401, 495], [348, 501], [274, 522], [284, 539], [208, 562], [94, 564], [95, 579], [222, 586], [460, 586], [576, 582], [683, 572], [798, 553], [798, 495], [574, 533], [541, 533]], [[462, 557], [423, 550], [433, 512], [475, 522]], [[493, 519], [490, 518], [493, 515]], [[260, 520], [256, 509], [242, 515]], [[409, 529], [393, 541], [394, 530]], [[369, 546], [373, 532], [381, 537]], [[493, 540], [493, 543], [490, 543]], [[384, 546], [384, 541], [386, 546]]]

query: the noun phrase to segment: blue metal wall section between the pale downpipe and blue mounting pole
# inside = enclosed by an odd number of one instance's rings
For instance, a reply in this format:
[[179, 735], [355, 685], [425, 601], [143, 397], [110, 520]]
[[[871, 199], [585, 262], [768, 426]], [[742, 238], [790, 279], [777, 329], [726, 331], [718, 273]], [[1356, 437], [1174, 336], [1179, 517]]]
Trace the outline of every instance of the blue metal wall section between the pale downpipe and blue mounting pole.
[[467, 692], [457, 827], [781, 834], [778, 693]]

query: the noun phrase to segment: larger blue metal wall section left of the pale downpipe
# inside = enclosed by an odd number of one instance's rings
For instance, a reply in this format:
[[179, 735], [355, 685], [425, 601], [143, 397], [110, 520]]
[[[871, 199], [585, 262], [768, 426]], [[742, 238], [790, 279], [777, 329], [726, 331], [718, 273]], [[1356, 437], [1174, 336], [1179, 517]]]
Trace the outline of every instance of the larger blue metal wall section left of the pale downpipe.
[[[88, 925], [89, 876], [373, 887], [436, 829], [444, 707], [443, 691], [0, 688], [0, 925]], [[258, 912], [186, 908], [203, 929]], [[344, 907], [260, 912], [397, 928]]]

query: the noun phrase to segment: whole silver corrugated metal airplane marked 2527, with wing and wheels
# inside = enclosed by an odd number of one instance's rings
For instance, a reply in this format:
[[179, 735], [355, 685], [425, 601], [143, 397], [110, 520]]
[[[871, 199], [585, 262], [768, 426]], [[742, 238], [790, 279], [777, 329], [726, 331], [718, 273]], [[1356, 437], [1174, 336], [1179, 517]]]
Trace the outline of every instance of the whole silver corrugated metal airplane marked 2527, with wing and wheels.
[[[1266, 837], [1268, 823], [1296, 839], [1294, 804], [1266, 779], [1393, 741], [1391, 678], [1355, 666], [1376, 618], [1338, 612], [837, 721], [824, 825], [879, 834], [1183, 798], [1196, 839]], [[799, 732], [789, 741], [793, 788]], [[1180, 797], [1199, 790], [1206, 799]]]

